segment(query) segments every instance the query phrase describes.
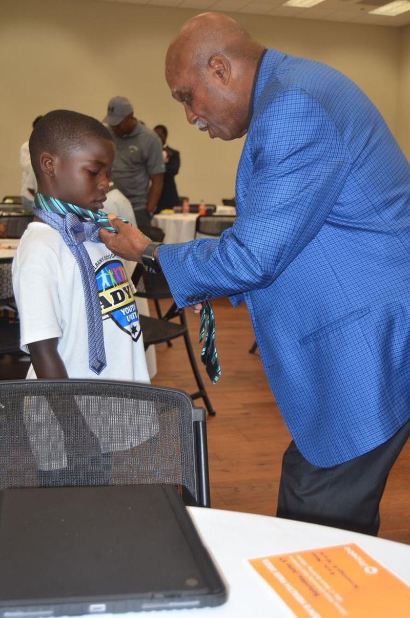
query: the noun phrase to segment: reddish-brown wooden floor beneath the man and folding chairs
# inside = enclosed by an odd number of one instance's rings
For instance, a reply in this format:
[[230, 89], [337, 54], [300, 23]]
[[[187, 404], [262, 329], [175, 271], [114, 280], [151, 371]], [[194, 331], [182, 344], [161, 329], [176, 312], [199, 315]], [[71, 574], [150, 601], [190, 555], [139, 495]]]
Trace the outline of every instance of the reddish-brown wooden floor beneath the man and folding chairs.
[[[254, 342], [246, 307], [231, 307], [226, 299], [213, 302], [216, 344], [222, 375], [213, 386], [203, 370], [216, 417], [208, 417], [211, 504], [274, 515], [281, 456], [290, 437], [268, 387]], [[198, 316], [187, 311], [192, 343], [196, 344]], [[158, 373], [153, 383], [195, 391], [194, 378], [182, 339], [172, 348], [156, 346]], [[201, 400], [197, 400], [202, 405]], [[410, 543], [410, 442], [393, 468], [383, 496], [380, 535]]]

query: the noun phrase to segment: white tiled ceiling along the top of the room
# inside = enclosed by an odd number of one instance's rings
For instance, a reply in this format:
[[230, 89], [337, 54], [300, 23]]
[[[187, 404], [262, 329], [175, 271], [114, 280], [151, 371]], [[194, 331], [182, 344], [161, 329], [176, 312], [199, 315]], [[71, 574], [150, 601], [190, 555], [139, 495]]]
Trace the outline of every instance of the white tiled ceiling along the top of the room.
[[179, 7], [196, 11], [221, 11], [273, 15], [274, 17], [297, 17], [298, 19], [320, 19], [330, 22], [367, 23], [380, 26], [405, 26], [410, 23], [410, 11], [386, 17], [371, 15], [369, 11], [387, 4], [389, 0], [325, 0], [310, 8], [283, 6], [286, 0], [101, 0], [102, 2], [124, 2], [125, 4], [150, 4], [155, 6]]

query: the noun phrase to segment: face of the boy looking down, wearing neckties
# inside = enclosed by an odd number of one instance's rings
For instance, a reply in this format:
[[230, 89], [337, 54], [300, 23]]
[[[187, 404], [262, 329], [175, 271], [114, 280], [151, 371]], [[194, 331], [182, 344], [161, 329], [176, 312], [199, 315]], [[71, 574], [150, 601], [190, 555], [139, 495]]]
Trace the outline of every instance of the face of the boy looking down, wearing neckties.
[[111, 140], [87, 138], [54, 159], [53, 197], [94, 213], [103, 208], [115, 155]]

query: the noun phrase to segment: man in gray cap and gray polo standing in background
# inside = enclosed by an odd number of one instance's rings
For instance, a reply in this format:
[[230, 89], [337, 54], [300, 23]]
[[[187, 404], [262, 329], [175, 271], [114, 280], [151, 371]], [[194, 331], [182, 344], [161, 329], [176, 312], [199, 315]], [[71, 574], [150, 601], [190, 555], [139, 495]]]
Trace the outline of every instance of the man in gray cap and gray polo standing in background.
[[137, 121], [125, 96], [109, 100], [103, 122], [108, 124], [116, 145], [113, 180], [132, 203], [137, 224], [149, 226], [163, 187], [165, 164], [161, 140]]

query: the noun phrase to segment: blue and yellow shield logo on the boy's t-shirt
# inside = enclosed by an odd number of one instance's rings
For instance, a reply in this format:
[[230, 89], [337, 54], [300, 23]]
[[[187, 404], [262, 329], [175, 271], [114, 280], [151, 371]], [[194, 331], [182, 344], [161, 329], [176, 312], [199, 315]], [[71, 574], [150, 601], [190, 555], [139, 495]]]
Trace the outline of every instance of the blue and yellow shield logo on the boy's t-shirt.
[[113, 320], [132, 341], [141, 335], [134, 294], [119, 260], [105, 262], [95, 273], [103, 320]]

